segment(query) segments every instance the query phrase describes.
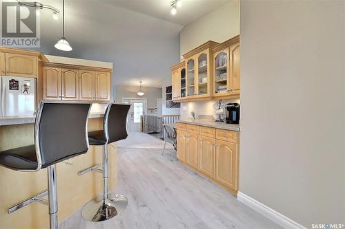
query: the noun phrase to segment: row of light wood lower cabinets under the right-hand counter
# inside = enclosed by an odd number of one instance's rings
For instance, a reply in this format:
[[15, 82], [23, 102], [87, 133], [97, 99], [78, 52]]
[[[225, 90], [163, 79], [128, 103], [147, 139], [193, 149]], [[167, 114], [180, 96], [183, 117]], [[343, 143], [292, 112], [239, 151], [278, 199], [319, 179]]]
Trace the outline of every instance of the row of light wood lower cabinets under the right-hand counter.
[[[191, 133], [194, 129], [199, 133]], [[204, 129], [177, 124], [177, 159], [216, 183], [238, 190], [238, 132]]]

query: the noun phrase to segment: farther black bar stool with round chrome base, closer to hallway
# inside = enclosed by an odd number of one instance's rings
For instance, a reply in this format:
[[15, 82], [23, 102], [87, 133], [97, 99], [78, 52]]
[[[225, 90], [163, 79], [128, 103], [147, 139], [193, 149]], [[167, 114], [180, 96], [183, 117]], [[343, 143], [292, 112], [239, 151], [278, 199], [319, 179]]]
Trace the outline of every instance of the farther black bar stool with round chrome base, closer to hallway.
[[103, 163], [80, 171], [83, 175], [90, 171], [103, 173], [103, 194], [90, 200], [81, 211], [81, 215], [88, 221], [104, 221], [117, 216], [126, 209], [128, 200], [122, 195], [112, 197], [108, 193], [108, 144], [127, 138], [126, 118], [130, 105], [110, 103], [103, 118], [103, 130], [88, 133], [91, 145], [103, 146]]

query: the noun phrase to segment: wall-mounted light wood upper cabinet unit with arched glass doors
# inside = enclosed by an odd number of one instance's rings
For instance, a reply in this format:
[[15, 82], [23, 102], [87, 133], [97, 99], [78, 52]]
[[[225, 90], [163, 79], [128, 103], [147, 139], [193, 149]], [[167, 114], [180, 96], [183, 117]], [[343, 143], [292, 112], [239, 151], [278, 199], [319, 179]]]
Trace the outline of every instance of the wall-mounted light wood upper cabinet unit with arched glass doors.
[[239, 36], [224, 43], [208, 41], [172, 66], [172, 100], [239, 98]]

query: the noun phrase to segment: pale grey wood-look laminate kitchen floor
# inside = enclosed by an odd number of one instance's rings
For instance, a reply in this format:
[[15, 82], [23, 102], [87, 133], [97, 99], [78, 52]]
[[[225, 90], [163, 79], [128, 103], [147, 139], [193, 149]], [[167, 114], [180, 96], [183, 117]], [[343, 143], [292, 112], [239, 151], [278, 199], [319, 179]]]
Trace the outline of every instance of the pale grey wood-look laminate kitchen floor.
[[281, 228], [237, 201], [228, 191], [173, 159], [161, 149], [119, 149], [119, 186], [128, 207], [108, 221], [91, 223], [79, 210], [70, 228]]

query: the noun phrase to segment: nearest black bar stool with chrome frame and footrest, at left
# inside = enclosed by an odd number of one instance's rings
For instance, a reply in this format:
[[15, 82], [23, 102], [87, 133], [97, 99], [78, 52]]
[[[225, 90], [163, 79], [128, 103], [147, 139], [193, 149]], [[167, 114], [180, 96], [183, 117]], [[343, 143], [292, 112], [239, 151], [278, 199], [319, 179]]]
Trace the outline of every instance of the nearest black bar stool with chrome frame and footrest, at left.
[[[48, 167], [48, 190], [8, 208], [9, 214], [37, 201], [49, 206], [50, 228], [58, 228], [55, 164], [88, 151], [90, 107], [90, 103], [41, 102], [34, 124], [34, 144], [0, 152], [0, 165], [16, 171]], [[43, 198], [46, 195], [48, 200]]]

